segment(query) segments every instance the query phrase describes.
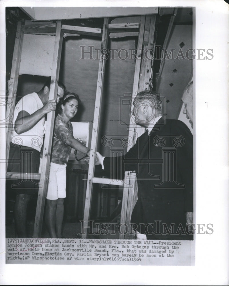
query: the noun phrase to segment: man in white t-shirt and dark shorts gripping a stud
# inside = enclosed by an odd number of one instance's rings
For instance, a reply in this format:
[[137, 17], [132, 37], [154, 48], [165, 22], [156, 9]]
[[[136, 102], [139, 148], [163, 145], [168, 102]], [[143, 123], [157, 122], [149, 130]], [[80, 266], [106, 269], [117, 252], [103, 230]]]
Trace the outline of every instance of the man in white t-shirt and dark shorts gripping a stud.
[[[45, 114], [56, 110], [56, 103], [64, 96], [65, 90], [65, 86], [59, 82], [57, 102], [48, 100], [50, 81], [51, 79], [39, 92], [33, 92], [21, 98], [15, 106], [8, 172], [38, 173], [45, 131]], [[27, 206], [32, 195], [37, 193], [38, 184], [24, 179], [12, 180], [10, 184], [10, 188], [16, 192], [14, 206], [16, 232], [18, 237], [27, 237]]]

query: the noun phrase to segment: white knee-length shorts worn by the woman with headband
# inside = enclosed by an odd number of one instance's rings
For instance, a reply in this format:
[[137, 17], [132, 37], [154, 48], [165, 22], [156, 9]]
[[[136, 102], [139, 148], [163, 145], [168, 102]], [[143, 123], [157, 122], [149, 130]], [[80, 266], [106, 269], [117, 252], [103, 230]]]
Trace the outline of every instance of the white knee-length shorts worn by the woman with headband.
[[[40, 172], [41, 164], [39, 174]], [[66, 198], [66, 164], [60, 165], [52, 162], [50, 163], [48, 192], [46, 198], [48, 200]]]

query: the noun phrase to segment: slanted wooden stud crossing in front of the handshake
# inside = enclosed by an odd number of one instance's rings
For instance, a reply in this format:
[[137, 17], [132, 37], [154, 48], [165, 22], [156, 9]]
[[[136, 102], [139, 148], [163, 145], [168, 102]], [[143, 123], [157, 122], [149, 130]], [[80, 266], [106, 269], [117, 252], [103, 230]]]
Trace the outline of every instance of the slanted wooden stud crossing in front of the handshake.
[[[108, 44], [108, 18], [104, 18], [103, 32], [102, 32], [102, 42], [101, 50], [107, 48]], [[97, 79], [97, 88], [96, 88], [96, 98], [95, 98], [95, 110], [94, 110], [94, 120], [92, 127], [92, 140], [91, 140], [91, 152], [90, 152], [90, 162], [88, 166], [88, 181], [87, 181], [87, 190], [86, 190], [86, 200], [84, 207], [84, 223], [83, 230], [86, 230], [88, 226], [88, 219], [90, 214], [91, 198], [92, 198], [92, 178], [94, 176], [94, 166], [95, 166], [95, 154], [98, 140], [98, 124], [100, 118], [100, 108], [102, 100], [102, 91], [104, 86], [104, 70], [105, 70], [106, 60], [103, 58], [100, 53], [99, 68], [98, 68], [98, 79]], [[82, 234], [82, 238], [86, 238], [87, 234]]]

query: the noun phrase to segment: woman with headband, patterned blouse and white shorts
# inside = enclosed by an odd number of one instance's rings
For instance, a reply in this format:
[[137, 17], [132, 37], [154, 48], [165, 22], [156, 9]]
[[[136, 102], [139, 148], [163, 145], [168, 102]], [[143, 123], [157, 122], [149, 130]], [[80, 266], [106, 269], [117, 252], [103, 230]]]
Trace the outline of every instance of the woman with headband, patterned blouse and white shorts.
[[66, 198], [66, 163], [74, 148], [89, 156], [90, 149], [73, 137], [72, 119], [78, 110], [79, 96], [68, 92], [59, 102], [54, 126], [45, 221], [51, 238], [62, 237], [64, 198]]

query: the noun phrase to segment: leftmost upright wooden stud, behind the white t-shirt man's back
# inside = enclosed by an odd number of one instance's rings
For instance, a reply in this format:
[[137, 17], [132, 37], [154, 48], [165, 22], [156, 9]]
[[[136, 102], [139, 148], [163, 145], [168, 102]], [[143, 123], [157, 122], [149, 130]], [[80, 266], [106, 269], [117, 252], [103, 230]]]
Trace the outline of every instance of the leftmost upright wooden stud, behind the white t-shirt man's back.
[[13, 130], [13, 113], [14, 113], [14, 106], [17, 93], [22, 42], [23, 42], [23, 32], [21, 31], [21, 22], [18, 22], [14, 50], [13, 50], [11, 74], [10, 74], [10, 81], [12, 82], [12, 86], [9, 89], [9, 94], [7, 98], [7, 108], [6, 108], [6, 170], [9, 159], [11, 133]]

